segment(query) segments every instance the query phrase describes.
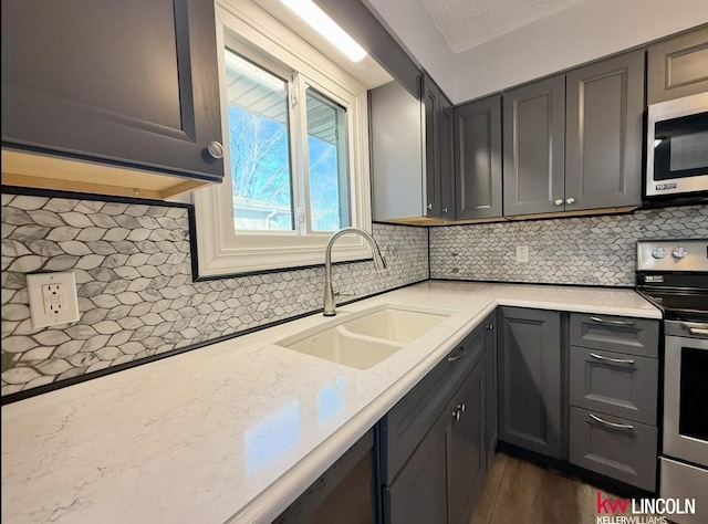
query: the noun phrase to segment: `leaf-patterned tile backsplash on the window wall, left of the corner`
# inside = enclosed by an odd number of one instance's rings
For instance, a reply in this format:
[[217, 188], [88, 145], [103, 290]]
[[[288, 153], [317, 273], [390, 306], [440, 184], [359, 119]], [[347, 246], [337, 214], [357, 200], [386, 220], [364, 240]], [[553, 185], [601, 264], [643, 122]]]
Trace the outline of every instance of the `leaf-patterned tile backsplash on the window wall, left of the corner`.
[[[322, 307], [323, 268], [192, 282], [186, 207], [2, 195], [2, 395]], [[374, 224], [388, 262], [333, 270], [366, 296], [428, 277], [424, 228]], [[33, 329], [25, 274], [73, 271], [79, 322]]]

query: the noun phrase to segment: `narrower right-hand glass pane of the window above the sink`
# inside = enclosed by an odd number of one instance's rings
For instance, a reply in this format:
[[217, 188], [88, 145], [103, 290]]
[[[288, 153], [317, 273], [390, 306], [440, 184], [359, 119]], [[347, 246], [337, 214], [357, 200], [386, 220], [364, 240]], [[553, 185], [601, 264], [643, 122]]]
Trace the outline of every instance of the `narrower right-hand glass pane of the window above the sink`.
[[310, 218], [313, 231], [350, 224], [346, 111], [308, 88]]

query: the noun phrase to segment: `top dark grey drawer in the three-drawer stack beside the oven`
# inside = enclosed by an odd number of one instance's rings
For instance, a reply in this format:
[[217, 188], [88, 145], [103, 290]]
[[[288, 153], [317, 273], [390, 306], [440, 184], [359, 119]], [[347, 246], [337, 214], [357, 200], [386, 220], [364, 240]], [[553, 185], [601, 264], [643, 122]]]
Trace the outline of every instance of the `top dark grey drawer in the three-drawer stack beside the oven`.
[[570, 343], [571, 346], [657, 358], [659, 321], [572, 313]]

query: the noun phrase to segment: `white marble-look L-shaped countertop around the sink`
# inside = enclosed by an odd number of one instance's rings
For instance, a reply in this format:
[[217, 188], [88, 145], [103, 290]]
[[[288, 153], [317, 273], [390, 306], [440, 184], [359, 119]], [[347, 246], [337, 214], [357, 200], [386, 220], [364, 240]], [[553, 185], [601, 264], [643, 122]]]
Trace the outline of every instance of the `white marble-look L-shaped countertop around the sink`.
[[368, 370], [275, 346], [313, 315], [2, 407], [2, 522], [271, 522], [497, 305], [660, 318], [631, 290], [428, 281], [452, 314]]

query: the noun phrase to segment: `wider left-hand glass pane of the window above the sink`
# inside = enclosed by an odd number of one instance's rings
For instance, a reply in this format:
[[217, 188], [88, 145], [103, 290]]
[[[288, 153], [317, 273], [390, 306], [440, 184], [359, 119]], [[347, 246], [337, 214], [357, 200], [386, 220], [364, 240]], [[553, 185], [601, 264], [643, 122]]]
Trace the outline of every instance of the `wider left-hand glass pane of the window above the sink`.
[[237, 230], [292, 230], [288, 83], [226, 50]]

